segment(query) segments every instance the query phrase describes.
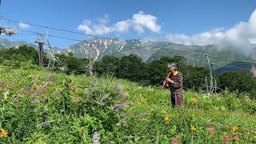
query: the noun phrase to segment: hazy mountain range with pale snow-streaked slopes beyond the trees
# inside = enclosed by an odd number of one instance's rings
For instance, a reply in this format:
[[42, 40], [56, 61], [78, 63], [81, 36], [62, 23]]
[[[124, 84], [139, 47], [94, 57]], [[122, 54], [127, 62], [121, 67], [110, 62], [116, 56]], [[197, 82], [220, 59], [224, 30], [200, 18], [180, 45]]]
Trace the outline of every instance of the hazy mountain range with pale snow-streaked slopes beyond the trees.
[[[6, 39], [0, 39], [0, 49], [8, 47], [18, 47], [22, 45], [34, 46], [30, 42], [10, 42]], [[256, 46], [255, 46], [256, 47]], [[114, 38], [94, 38], [78, 42], [66, 48], [54, 47], [54, 54], [73, 53], [78, 58], [94, 58], [100, 60], [104, 55], [114, 55], [122, 57], [129, 54], [137, 54], [144, 62], [151, 62], [162, 56], [180, 55], [186, 57], [187, 62], [193, 66], [207, 66], [208, 55], [213, 68], [216, 70], [230, 63], [243, 62], [246, 69], [251, 63], [256, 62], [256, 49], [244, 53], [242, 50], [234, 49], [230, 46], [185, 46], [172, 42], [150, 42], [138, 39], [119, 40]], [[240, 65], [240, 67], [244, 67]], [[228, 70], [232, 69], [229, 67]], [[222, 71], [222, 70], [220, 70]]]

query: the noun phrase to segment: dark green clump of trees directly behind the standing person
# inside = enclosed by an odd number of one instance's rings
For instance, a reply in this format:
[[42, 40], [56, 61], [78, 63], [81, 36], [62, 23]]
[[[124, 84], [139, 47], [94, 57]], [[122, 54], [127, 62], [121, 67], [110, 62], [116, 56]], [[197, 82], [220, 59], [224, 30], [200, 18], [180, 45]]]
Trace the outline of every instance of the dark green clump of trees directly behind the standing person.
[[168, 74], [166, 64], [170, 62], [177, 63], [178, 70], [184, 75], [186, 89], [202, 89], [207, 70], [186, 65], [186, 58], [181, 56], [162, 57], [150, 63], [142, 62], [142, 59], [134, 54], [122, 58], [104, 56], [102, 61], [94, 64], [94, 73], [113, 74], [118, 78], [140, 82], [142, 85], [160, 86]]

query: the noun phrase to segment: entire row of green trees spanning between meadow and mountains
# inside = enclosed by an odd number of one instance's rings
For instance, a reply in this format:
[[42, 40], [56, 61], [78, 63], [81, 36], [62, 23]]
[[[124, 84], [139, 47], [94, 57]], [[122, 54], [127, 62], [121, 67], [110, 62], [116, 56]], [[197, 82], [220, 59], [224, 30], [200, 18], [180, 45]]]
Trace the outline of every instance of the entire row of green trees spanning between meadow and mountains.
[[[10, 48], [0, 50], [0, 64], [14, 68], [39, 69], [38, 51], [30, 46], [20, 46], [18, 49]], [[58, 61], [55, 62], [55, 70], [62, 70], [65, 74], [90, 74], [93, 69], [94, 74], [110, 74], [117, 78], [128, 79], [133, 82], [140, 82], [147, 86], [161, 86], [168, 74], [166, 64], [175, 62], [178, 70], [183, 74], [183, 84], [185, 90], [204, 90], [205, 77], [208, 74], [206, 68], [190, 66], [186, 58], [181, 56], [162, 56], [158, 60], [149, 63], [142, 62], [142, 58], [135, 54], [122, 58], [114, 56], [103, 56], [101, 61], [90, 65], [87, 58], [76, 58], [74, 54], [57, 54]], [[45, 58], [45, 63], [48, 59]], [[90, 66], [89, 66], [90, 65]], [[250, 74], [246, 72], [226, 72], [218, 77], [218, 87], [225, 90], [238, 90], [239, 93], [247, 92], [252, 96], [256, 94], [255, 82]]]

